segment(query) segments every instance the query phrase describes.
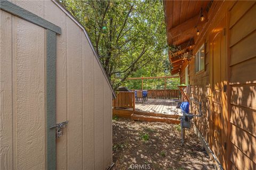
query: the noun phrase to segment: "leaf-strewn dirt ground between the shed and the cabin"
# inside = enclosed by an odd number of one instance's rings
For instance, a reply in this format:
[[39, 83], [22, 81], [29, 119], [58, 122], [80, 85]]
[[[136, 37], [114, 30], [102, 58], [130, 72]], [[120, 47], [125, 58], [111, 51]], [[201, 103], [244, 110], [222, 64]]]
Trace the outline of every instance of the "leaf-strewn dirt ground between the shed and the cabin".
[[196, 135], [187, 130], [181, 146], [180, 125], [113, 120], [113, 169], [214, 169]]

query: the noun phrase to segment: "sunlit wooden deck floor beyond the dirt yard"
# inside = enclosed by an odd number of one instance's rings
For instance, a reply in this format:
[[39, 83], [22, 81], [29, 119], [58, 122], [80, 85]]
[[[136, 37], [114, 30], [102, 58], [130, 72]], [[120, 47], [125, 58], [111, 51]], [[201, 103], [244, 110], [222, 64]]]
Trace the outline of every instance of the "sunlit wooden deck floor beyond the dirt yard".
[[135, 111], [167, 115], [181, 115], [177, 109], [178, 99], [148, 99], [148, 101], [135, 103]]

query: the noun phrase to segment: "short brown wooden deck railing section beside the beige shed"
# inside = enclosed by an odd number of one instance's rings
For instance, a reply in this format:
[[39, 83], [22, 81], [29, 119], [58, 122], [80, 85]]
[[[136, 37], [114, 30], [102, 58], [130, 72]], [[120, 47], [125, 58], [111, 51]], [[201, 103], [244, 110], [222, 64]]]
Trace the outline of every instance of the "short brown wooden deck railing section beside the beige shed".
[[132, 108], [135, 111], [134, 91], [119, 91], [113, 100], [113, 107]]

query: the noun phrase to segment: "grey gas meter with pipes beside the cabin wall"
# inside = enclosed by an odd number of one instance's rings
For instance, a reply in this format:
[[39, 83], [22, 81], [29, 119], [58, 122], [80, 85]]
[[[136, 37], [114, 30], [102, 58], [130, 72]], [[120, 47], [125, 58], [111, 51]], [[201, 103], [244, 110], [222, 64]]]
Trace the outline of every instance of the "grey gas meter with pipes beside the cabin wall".
[[191, 120], [194, 117], [201, 117], [202, 116], [202, 103], [199, 101], [196, 101], [193, 97], [189, 98], [189, 103], [192, 104], [193, 101], [197, 105], [199, 105], [199, 115], [194, 115], [193, 113], [186, 113], [185, 111], [182, 111], [183, 116], [180, 118], [180, 126], [181, 126], [181, 144], [184, 144], [185, 140], [185, 129], [191, 128]]

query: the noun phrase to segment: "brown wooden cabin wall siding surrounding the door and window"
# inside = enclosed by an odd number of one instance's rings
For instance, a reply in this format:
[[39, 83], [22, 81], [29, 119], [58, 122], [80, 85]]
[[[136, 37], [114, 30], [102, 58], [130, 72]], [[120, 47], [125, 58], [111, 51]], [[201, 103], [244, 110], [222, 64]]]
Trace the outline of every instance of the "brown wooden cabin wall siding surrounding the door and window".
[[[215, 9], [219, 8], [218, 11]], [[202, 102], [203, 116], [194, 123], [212, 147], [210, 98], [210, 33], [226, 17], [227, 36], [227, 155], [225, 169], [256, 169], [256, 5], [255, 1], [214, 2], [204, 35], [198, 38], [193, 55], [205, 43], [205, 68], [195, 73], [195, 59], [189, 62], [191, 97]], [[181, 83], [185, 83], [185, 67], [181, 69]], [[182, 78], [184, 77], [184, 79]], [[226, 104], [222, 106], [225, 107]], [[197, 106], [191, 112], [198, 113]], [[214, 149], [213, 149], [214, 150]], [[217, 156], [218, 157], [218, 156]], [[219, 158], [222, 159], [222, 158]]]

